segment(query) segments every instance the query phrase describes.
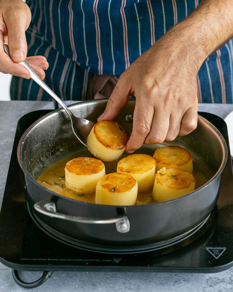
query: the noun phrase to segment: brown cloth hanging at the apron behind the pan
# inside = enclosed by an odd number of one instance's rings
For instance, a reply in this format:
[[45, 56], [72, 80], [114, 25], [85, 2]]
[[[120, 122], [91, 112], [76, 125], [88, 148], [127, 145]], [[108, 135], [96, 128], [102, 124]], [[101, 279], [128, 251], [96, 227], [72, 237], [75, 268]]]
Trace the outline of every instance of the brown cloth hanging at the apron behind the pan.
[[114, 75], [95, 75], [91, 80], [87, 92], [87, 100], [109, 98], [116, 86], [118, 78]]

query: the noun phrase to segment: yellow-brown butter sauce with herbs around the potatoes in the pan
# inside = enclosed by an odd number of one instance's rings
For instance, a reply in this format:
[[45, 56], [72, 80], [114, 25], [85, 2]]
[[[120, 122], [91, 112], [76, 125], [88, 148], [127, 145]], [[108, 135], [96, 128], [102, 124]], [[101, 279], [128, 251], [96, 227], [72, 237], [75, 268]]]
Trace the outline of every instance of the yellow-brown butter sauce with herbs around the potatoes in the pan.
[[[122, 157], [120, 157], [120, 159], [122, 159], [126, 155], [128, 154], [125, 153]], [[43, 173], [41, 173], [37, 181], [41, 183], [43, 186], [47, 187], [49, 190], [52, 190], [57, 194], [61, 194], [65, 197], [85, 201], [88, 203], [95, 203], [95, 193], [82, 194], [66, 186], [65, 182], [66, 163], [69, 160], [74, 159], [76, 157], [93, 157], [93, 156], [87, 149], [74, 153], [48, 167]], [[106, 174], [117, 171], [117, 162], [118, 161], [104, 162]], [[195, 177], [196, 180], [195, 189], [201, 187], [207, 182], [207, 179], [204, 177], [204, 175], [195, 167], [193, 168], [193, 176]], [[152, 198], [152, 190], [148, 190], [147, 192], [139, 192], [137, 194], [136, 205], [150, 204], [155, 202], [156, 201], [154, 201]]]

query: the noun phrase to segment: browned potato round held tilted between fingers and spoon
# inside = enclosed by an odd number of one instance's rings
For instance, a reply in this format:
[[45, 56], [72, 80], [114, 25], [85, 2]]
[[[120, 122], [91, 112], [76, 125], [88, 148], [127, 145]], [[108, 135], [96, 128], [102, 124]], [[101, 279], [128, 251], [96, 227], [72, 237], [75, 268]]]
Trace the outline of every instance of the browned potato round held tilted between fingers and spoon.
[[117, 122], [99, 121], [87, 137], [88, 150], [103, 161], [117, 160], [126, 149], [129, 133]]

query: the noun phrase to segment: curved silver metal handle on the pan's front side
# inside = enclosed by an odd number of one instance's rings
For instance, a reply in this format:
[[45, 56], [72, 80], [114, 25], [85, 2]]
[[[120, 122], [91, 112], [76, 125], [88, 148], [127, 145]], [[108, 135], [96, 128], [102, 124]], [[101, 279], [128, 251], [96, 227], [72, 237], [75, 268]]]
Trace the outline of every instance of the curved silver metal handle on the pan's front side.
[[50, 216], [52, 218], [64, 219], [64, 220], [73, 221], [77, 223], [92, 223], [92, 224], [116, 223], [116, 229], [120, 233], [129, 232], [129, 229], [130, 229], [129, 220], [127, 216], [125, 215], [119, 215], [119, 216], [116, 216], [115, 218], [106, 218], [106, 219], [70, 216], [66, 214], [57, 213], [56, 204], [49, 199], [45, 199], [43, 201], [35, 203], [34, 208], [36, 211], [44, 215]]

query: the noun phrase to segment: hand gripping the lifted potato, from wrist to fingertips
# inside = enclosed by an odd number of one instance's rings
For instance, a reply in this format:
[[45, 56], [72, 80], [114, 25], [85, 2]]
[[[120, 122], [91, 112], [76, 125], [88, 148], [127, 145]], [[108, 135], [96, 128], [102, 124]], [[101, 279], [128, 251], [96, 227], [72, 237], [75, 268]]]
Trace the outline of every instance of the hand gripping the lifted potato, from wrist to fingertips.
[[185, 44], [180, 43], [178, 32], [176, 37], [168, 31], [121, 74], [98, 121], [114, 119], [130, 96], [136, 97], [128, 153], [143, 143], [172, 141], [196, 128], [201, 64]]

